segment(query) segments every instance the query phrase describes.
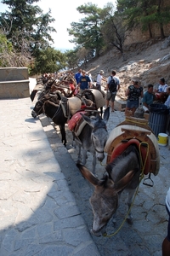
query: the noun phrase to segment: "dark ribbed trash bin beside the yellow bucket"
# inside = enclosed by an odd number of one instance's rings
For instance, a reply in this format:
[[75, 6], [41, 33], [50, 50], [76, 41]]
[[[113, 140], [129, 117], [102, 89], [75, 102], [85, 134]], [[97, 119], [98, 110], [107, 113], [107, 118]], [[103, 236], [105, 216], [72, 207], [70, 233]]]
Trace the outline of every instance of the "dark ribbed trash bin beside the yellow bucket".
[[169, 108], [164, 104], [150, 104], [149, 125], [156, 137], [159, 133], [166, 132], [167, 114]]

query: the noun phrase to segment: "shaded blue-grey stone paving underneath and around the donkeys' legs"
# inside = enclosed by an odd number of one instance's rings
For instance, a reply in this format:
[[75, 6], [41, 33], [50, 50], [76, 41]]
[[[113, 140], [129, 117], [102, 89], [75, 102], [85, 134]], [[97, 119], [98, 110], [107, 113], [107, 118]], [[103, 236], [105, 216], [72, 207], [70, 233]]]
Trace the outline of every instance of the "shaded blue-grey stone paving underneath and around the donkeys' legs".
[[[120, 124], [124, 120], [124, 113], [115, 111], [111, 113], [109, 122], [107, 124], [108, 131], [112, 131], [114, 127]], [[58, 127], [56, 127], [59, 133]], [[72, 148], [72, 136], [71, 131], [67, 132], [67, 149], [71, 155], [72, 160], [77, 162], [77, 148]], [[55, 155], [58, 149], [55, 148]], [[111, 238], [107, 237], [95, 237], [94, 242], [99, 248], [99, 252], [102, 256], [161, 256], [161, 242], [167, 234], [167, 212], [165, 208], [165, 196], [170, 182], [170, 170], [169, 170], [169, 153], [167, 147], [159, 146], [161, 168], [157, 176], [151, 175], [154, 182], [153, 187], [145, 186], [140, 183], [138, 195], [135, 198], [133, 204], [133, 225], [125, 223], [122, 229]], [[59, 154], [59, 152], [57, 153]], [[60, 157], [60, 155], [59, 155]], [[88, 161], [86, 166], [89, 170], [92, 170], [92, 156], [88, 154]], [[64, 159], [59, 161], [59, 166], [65, 166], [66, 161]], [[97, 165], [96, 173], [98, 177], [102, 177], [105, 172], [105, 160], [104, 166], [99, 163]], [[63, 168], [65, 170], [65, 168]], [[89, 204], [89, 197], [93, 193], [93, 187], [86, 181], [79, 181], [77, 172], [75, 169], [65, 172], [65, 177], [70, 185], [72, 193], [75, 195], [77, 206], [82, 212], [82, 217], [85, 219], [88, 229], [91, 229], [93, 223], [93, 212]], [[111, 234], [116, 231], [122, 224], [123, 218], [127, 213], [126, 206], [126, 194], [122, 194], [121, 205], [118, 209], [116, 228], [113, 227], [111, 221], [107, 226], [107, 233]], [[92, 255], [92, 254], [90, 254]]]

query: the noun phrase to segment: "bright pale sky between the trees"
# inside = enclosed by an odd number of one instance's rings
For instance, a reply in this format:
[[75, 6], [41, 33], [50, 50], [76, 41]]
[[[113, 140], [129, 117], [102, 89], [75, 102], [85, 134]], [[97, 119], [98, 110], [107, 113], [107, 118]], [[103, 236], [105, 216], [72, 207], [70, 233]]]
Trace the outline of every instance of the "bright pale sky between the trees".
[[[52, 33], [51, 36], [54, 39], [54, 44], [52, 47], [65, 51], [65, 49], [73, 49], [74, 44], [71, 44], [69, 40], [71, 37], [67, 32], [67, 28], [71, 28], [71, 22], [79, 22], [82, 18], [82, 15], [77, 11], [77, 7], [85, 3], [94, 3], [99, 8], [104, 8], [106, 3], [111, 1], [107, 0], [61, 0], [55, 2], [55, 0], [40, 0], [37, 5], [42, 9], [43, 13], [47, 13], [48, 9], [51, 9], [51, 16], [55, 19], [50, 26], [53, 26], [56, 33]], [[116, 3], [116, 0], [113, 0], [112, 3]], [[7, 9], [7, 5], [0, 3], [0, 12], [4, 12]]]

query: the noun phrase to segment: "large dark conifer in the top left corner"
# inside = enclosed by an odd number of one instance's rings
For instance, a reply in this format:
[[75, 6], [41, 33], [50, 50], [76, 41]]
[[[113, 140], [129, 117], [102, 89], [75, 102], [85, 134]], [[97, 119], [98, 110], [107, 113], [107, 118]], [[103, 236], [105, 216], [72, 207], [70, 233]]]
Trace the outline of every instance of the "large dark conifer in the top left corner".
[[14, 49], [22, 53], [27, 49], [34, 56], [37, 49], [44, 49], [49, 42], [53, 42], [50, 32], [55, 32], [49, 26], [54, 21], [51, 11], [43, 15], [42, 9], [34, 5], [37, 2], [39, 0], [3, 0], [2, 3], [7, 4], [10, 11], [0, 16], [0, 28]]

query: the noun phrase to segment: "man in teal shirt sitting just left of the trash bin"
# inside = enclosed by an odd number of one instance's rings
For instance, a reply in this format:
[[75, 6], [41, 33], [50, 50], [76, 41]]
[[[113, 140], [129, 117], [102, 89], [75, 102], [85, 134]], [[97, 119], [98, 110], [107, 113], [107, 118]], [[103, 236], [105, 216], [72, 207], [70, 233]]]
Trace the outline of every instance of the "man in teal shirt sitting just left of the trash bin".
[[144, 92], [144, 97], [142, 99], [143, 103], [143, 108], [144, 112], [150, 111], [150, 104], [153, 104], [154, 99], [155, 99], [155, 94], [154, 94], [154, 85], [153, 84], [148, 84], [148, 90]]

